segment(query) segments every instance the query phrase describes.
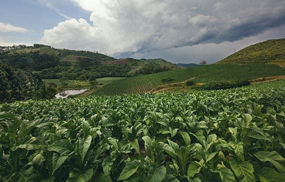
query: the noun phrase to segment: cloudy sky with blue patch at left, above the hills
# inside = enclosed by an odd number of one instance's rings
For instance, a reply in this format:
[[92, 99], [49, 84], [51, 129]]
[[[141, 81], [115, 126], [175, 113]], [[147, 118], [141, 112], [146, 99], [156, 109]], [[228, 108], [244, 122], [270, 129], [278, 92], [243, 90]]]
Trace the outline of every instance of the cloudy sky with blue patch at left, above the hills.
[[3, 0], [0, 45], [41, 43], [115, 58], [218, 61], [285, 37], [285, 0]]

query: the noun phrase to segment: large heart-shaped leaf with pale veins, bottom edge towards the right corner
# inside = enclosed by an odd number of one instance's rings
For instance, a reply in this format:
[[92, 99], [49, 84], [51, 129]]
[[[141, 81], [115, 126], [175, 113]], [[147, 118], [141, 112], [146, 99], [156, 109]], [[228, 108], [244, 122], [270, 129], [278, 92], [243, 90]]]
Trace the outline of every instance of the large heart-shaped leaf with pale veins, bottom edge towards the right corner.
[[239, 164], [234, 158], [229, 159], [229, 165], [235, 176], [242, 179], [243, 182], [255, 182], [253, 166], [245, 161]]

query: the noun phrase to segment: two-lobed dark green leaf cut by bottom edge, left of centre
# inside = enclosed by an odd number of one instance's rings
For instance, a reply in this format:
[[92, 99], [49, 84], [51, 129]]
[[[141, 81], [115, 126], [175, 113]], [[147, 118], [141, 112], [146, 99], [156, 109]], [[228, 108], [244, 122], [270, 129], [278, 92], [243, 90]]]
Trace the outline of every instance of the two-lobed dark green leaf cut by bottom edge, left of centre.
[[93, 169], [89, 169], [81, 173], [80, 170], [74, 169], [69, 173], [66, 182], [88, 182], [93, 176]]

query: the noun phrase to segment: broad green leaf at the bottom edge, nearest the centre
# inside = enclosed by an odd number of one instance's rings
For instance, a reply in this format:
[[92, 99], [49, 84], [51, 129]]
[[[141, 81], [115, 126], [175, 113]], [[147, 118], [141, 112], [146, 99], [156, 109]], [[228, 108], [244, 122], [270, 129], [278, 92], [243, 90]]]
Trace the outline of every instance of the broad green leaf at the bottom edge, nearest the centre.
[[147, 173], [147, 182], [161, 182], [166, 175], [166, 168], [164, 166], [150, 165]]

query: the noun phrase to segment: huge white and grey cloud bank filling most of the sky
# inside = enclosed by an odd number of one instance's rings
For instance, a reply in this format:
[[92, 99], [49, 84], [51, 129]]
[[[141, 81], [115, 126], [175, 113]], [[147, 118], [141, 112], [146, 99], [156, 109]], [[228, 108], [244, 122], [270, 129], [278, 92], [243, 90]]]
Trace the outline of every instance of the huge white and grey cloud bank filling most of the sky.
[[[71, 0], [90, 11], [45, 30], [40, 42], [113, 56], [242, 40], [285, 24], [282, 0]], [[285, 36], [285, 34], [284, 34]]]

